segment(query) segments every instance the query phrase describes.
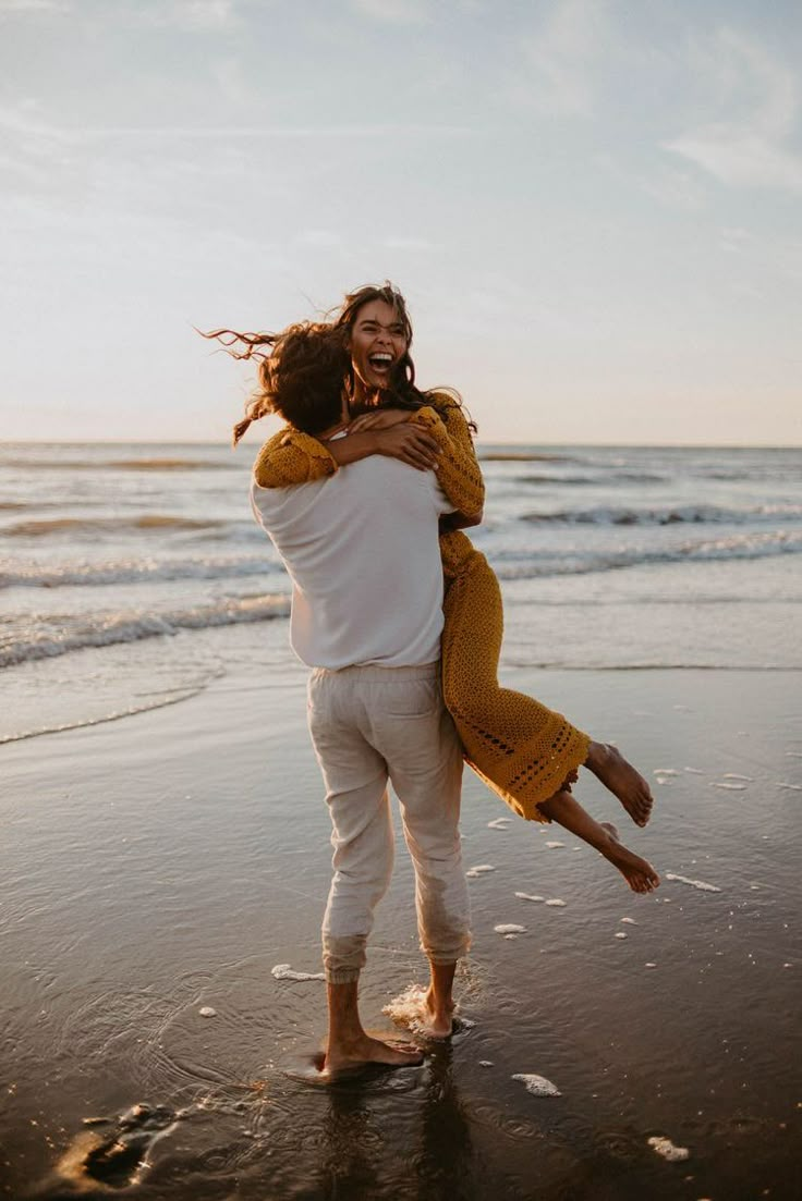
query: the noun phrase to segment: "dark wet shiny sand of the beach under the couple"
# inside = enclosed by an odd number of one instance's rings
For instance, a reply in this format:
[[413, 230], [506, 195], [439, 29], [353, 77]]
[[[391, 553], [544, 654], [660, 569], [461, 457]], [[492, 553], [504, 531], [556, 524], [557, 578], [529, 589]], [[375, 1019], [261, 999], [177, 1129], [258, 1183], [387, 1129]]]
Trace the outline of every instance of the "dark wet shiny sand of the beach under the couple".
[[[653, 781], [646, 830], [587, 772], [575, 790], [663, 886], [499, 821], [467, 773], [465, 867], [493, 871], [463, 1023], [421, 1068], [325, 1088], [329, 830], [284, 637], [260, 668], [234, 632], [183, 704], [4, 748], [5, 1195], [798, 1196], [798, 674], [507, 673]], [[367, 1024], [422, 980], [399, 847]]]

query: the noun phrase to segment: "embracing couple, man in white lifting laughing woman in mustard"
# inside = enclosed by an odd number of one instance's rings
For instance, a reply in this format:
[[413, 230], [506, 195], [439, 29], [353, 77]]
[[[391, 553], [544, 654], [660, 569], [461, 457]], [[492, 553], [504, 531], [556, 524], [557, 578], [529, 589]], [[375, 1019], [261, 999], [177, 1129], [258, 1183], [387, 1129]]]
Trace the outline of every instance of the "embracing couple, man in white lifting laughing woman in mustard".
[[251, 500], [292, 580], [290, 639], [311, 668], [309, 730], [333, 826], [323, 1070], [418, 1063], [409, 1044], [370, 1038], [358, 1012], [393, 866], [388, 784], [415, 867], [430, 968], [421, 1028], [432, 1038], [451, 1034], [455, 970], [470, 945], [463, 761], [521, 817], [558, 821], [595, 847], [635, 892], [658, 886], [654, 868], [582, 808], [571, 784], [584, 765], [637, 825], [652, 796], [614, 747], [498, 685], [499, 586], [462, 533], [482, 518], [473, 426], [456, 395], [415, 386], [400, 293], [360, 288], [331, 321], [278, 335], [207, 336], [260, 364], [234, 440], [268, 412], [287, 423], [259, 454]]

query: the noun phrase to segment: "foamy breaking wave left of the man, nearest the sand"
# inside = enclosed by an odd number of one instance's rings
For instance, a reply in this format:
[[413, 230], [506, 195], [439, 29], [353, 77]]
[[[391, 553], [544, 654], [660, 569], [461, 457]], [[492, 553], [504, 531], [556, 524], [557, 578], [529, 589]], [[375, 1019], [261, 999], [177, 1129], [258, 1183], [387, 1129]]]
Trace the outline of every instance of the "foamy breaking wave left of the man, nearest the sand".
[[271, 621], [287, 617], [290, 597], [263, 596], [221, 600], [218, 604], [177, 609], [172, 613], [118, 613], [97, 615], [94, 622], [71, 620], [60, 631], [48, 631], [41, 637], [7, 643], [0, 647], [0, 668], [28, 663], [31, 659], [55, 658], [87, 647], [137, 643], [145, 638], [177, 634], [182, 629], [209, 629], [240, 622]]

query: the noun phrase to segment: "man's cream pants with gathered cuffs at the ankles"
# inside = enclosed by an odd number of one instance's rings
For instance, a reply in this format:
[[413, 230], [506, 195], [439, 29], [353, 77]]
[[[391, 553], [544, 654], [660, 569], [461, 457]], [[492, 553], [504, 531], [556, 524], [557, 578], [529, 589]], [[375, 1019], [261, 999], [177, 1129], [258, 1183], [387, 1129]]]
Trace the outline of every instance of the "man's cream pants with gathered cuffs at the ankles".
[[393, 868], [388, 782], [415, 865], [421, 950], [435, 963], [458, 960], [470, 943], [458, 830], [463, 764], [442, 705], [440, 664], [317, 668], [309, 679], [309, 731], [333, 825], [326, 979], [356, 980], [366, 962], [374, 909]]

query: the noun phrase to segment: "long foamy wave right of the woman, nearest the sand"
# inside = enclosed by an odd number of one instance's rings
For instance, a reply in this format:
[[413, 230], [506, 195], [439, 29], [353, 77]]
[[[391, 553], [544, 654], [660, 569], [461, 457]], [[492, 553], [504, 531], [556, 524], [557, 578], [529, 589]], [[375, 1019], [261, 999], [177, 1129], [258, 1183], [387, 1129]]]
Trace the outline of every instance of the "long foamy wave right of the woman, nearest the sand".
[[772, 530], [765, 533], [732, 534], [663, 550], [631, 549], [575, 554], [565, 556], [539, 555], [525, 562], [505, 561], [493, 556], [493, 568], [501, 580], [536, 579], [549, 575], [587, 575], [593, 572], [618, 570], [624, 567], [644, 567], [655, 563], [718, 562], [721, 560], [770, 558], [776, 555], [802, 552], [802, 530]]

